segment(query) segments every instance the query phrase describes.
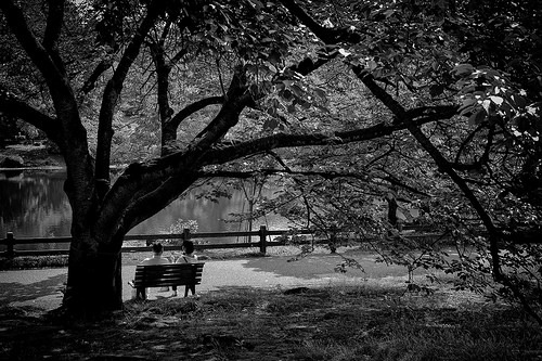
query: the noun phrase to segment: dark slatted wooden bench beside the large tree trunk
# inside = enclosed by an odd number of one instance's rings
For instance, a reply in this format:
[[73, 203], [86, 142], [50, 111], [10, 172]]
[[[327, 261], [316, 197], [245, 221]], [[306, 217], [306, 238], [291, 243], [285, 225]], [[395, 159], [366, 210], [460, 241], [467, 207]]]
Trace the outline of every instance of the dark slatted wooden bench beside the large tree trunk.
[[140, 265], [136, 267], [136, 278], [129, 284], [137, 289], [136, 297], [146, 299], [146, 287], [185, 286], [184, 297], [192, 291], [196, 292], [196, 284], [202, 283], [202, 273], [205, 262], [170, 263], [170, 265]]

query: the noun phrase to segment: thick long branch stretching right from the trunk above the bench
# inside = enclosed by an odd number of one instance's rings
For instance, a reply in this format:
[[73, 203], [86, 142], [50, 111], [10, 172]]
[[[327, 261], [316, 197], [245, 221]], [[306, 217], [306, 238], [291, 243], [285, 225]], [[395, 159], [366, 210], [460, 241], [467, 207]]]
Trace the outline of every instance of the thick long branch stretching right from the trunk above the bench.
[[[433, 118], [426, 116], [421, 121], [436, 121], [439, 119], [437, 116], [439, 114], [439, 112], [435, 112]], [[443, 116], [446, 114], [447, 113], [443, 112], [440, 115]], [[421, 123], [417, 121], [416, 124], [421, 125]], [[404, 129], [406, 129], [405, 125], [389, 125], [382, 123], [376, 126], [353, 131], [336, 132], [334, 136], [281, 133], [225, 147], [198, 149], [197, 146], [193, 146], [154, 160], [132, 164], [118, 178], [109, 192], [107, 192], [102, 203], [100, 222], [98, 222], [96, 227], [99, 229], [111, 228], [113, 227], [112, 224], [116, 224], [120, 218], [122, 218], [122, 223], [126, 227], [131, 224], [132, 221], [137, 221], [131, 219], [136, 219], [134, 217], [139, 219], [136, 211], [125, 212], [125, 209], [130, 208], [134, 210], [136, 206], [133, 203], [139, 202], [137, 199], [144, 199], [145, 192], [153, 193], [150, 195], [154, 202], [153, 209], [156, 211], [159, 210], [159, 203], [162, 203], [162, 207], [164, 207], [167, 205], [167, 202], [170, 202], [169, 199], [171, 199], [171, 197], [175, 198], [184, 191], [181, 185], [184, 184], [188, 178], [186, 169], [191, 169], [191, 175], [197, 178], [197, 175], [193, 172], [196, 172], [197, 169], [206, 165], [223, 164], [240, 157], [267, 152], [278, 147], [346, 144], [382, 138]], [[201, 175], [202, 173], [199, 173], [199, 176]], [[169, 186], [162, 184], [164, 179], [177, 179], [177, 181], [171, 180], [171, 186]], [[169, 181], [167, 182], [169, 184]], [[176, 186], [173, 186], [173, 184], [176, 184]], [[151, 198], [146, 199], [151, 202]], [[142, 211], [144, 211], [146, 216], [154, 214], [150, 211], [151, 208], [144, 208], [143, 201], [140, 204], [141, 209], [143, 209]]]

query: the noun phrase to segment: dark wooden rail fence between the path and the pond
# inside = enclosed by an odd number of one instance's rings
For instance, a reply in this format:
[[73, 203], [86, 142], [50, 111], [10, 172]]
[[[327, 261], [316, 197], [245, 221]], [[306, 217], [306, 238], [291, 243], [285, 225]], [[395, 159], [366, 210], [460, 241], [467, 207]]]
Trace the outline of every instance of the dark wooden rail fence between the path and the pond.
[[[266, 225], [261, 225], [258, 231], [246, 231], [246, 232], [210, 232], [210, 233], [191, 233], [189, 229], [185, 229], [183, 233], [179, 234], [134, 234], [126, 235], [125, 241], [165, 241], [165, 240], [197, 240], [197, 238], [224, 238], [224, 237], [250, 237], [250, 242], [237, 242], [237, 243], [198, 243], [194, 242], [194, 247], [196, 249], [216, 249], [216, 248], [248, 248], [248, 247], [259, 247], [259, 250], [264, 254], [267, 247], [284, 245], [284, 242], [268, 241], [269, 236], [283, 235], [288, 233], [288, 230], [276, 230], [270, 231]], [[296, 231], [296, 234], [312, 234], [313, 231], [301, 230]], [[258, 237], [258, 242], [251, 242], [253, 237]], [[8, 232], [5, 238], [0, 240], [0, 246], [5, 247], [4, 252], [0, 253], [0, 256], [4, 257], [16, 257], [16, 256], [49, 256], [49, 255], [67, 255], [67, 249], [40, 249], [40, 250], [23, 250], [15, 249], [16, 245], [24, 244], [49, 244], [49, 243], [70, 243], [70, 236], [64, 237], [34, 237], [34, 238], [15, 238], [12, 232]], [[181, 246], [167, 245], [167, 250], [181, 250]], [[149, 247], [145, 246], [134, 246], [134, 247], [122, 247], [121, 252], [150, 252]]]

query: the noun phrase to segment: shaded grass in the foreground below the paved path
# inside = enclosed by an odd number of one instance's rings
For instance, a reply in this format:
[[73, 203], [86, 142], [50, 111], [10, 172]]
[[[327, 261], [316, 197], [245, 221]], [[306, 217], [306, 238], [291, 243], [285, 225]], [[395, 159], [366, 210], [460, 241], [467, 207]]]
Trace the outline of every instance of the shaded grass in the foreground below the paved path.
[[[542, 333], [518, 310], [442, 287], [229, 288], [130, 301], [113, 318], [62, 326], [0, 310], [10, 360], [540, 360]], [[8, 336], [8, 337], [5, 337]]]

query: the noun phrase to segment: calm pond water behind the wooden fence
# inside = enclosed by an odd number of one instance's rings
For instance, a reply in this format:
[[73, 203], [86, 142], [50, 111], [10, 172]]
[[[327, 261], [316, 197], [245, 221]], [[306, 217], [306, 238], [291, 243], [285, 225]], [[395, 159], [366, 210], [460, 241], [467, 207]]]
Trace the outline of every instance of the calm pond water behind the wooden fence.
[[[15, 238], [68, 236], [72, 209], [63, 191], [65, 178], [65, 171], [0, 172], [0, 238], [5, 237], [7, 232], [13, 232]], [[231, 214], [248, 209], [242, 191], [234, 191], [231, 198], [222, 197], [218, 203], [198, 197], [201, 193], [202, 190], [196, 189], [176, 199], [129, 234], [165, 233], [179, 219], [195, 220], [198, 232], [247, 230], [246, 223], [228, 221]], [[287, 222], [278, 215], [260, 218], [253, 224], [254, 230], [260, 224], [268, 229], [287, 229]]]

